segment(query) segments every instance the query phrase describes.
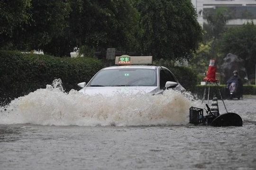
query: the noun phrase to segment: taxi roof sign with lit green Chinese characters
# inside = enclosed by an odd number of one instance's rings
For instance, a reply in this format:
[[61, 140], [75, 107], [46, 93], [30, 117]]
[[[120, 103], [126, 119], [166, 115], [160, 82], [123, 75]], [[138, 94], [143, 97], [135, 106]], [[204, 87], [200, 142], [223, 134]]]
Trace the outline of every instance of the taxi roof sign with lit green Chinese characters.
[[116, 57], [117, 65], [136, 65], [136, 64], [152, 64], [152, 56], [128, 56], [122, 55]]

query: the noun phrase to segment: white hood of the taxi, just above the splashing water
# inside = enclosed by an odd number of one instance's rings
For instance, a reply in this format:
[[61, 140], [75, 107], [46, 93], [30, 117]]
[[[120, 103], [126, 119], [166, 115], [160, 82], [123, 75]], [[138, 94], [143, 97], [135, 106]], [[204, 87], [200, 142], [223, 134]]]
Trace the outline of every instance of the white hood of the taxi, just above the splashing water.
[[143, 93], [155, 93], [157, 87], [155, 86], [115, 86], [115, 87], [84, 87], [79, 90], [80, 93], [88, 95], [101, 94], [104, 96], [111, 96], [116, 93], [124, 94], [143, 94]]

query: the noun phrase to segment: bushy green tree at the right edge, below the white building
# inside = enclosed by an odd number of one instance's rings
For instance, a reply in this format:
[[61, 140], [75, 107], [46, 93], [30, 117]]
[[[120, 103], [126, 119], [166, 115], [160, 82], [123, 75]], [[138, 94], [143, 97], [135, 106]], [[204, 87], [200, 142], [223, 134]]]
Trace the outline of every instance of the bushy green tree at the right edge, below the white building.
[[223, 56], [235, 54], [245, 61], [247, 75], [254, 75], [256, 65], [256, 26], [253, 22], [241, 27], [231, 27], [219, 41]]

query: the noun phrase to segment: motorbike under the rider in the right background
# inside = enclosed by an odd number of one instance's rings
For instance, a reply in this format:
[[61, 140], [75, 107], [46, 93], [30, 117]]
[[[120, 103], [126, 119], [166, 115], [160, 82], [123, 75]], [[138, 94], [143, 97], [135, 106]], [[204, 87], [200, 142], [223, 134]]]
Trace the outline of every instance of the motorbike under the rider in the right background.
[[226, 92], [227, 92], [227, 96], [229, 96], [229, 99], [231, 99], [231, 100], [233, 98], [238, 98], [238, 100], [242, 99], [243, 98], [243, 85], [239, 84], [238, 81], [227, 83]]

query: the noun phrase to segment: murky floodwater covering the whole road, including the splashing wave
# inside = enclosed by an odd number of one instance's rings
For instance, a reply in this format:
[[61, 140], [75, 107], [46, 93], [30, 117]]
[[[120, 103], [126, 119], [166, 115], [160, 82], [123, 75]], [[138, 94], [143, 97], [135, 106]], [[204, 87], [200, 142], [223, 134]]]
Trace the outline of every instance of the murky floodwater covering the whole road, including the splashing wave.
[[0, 109], [0, 170], [256, 170], [256, 96], [224, 100], [242, 127], [189, 124], [189, 108], [206, 102], [47, 85]]

